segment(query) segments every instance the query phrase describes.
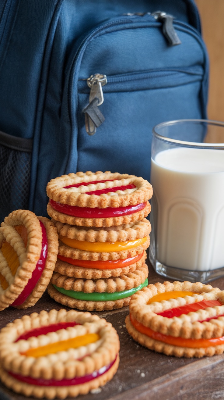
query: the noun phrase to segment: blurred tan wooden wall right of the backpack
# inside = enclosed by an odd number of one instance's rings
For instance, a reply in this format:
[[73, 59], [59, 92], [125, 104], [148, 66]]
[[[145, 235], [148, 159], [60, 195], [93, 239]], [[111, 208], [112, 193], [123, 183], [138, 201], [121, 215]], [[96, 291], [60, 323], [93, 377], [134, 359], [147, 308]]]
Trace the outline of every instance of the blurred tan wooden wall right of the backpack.
[[224, 121], [224, 0], [195, 0], [210, 58], [208, 118]]

